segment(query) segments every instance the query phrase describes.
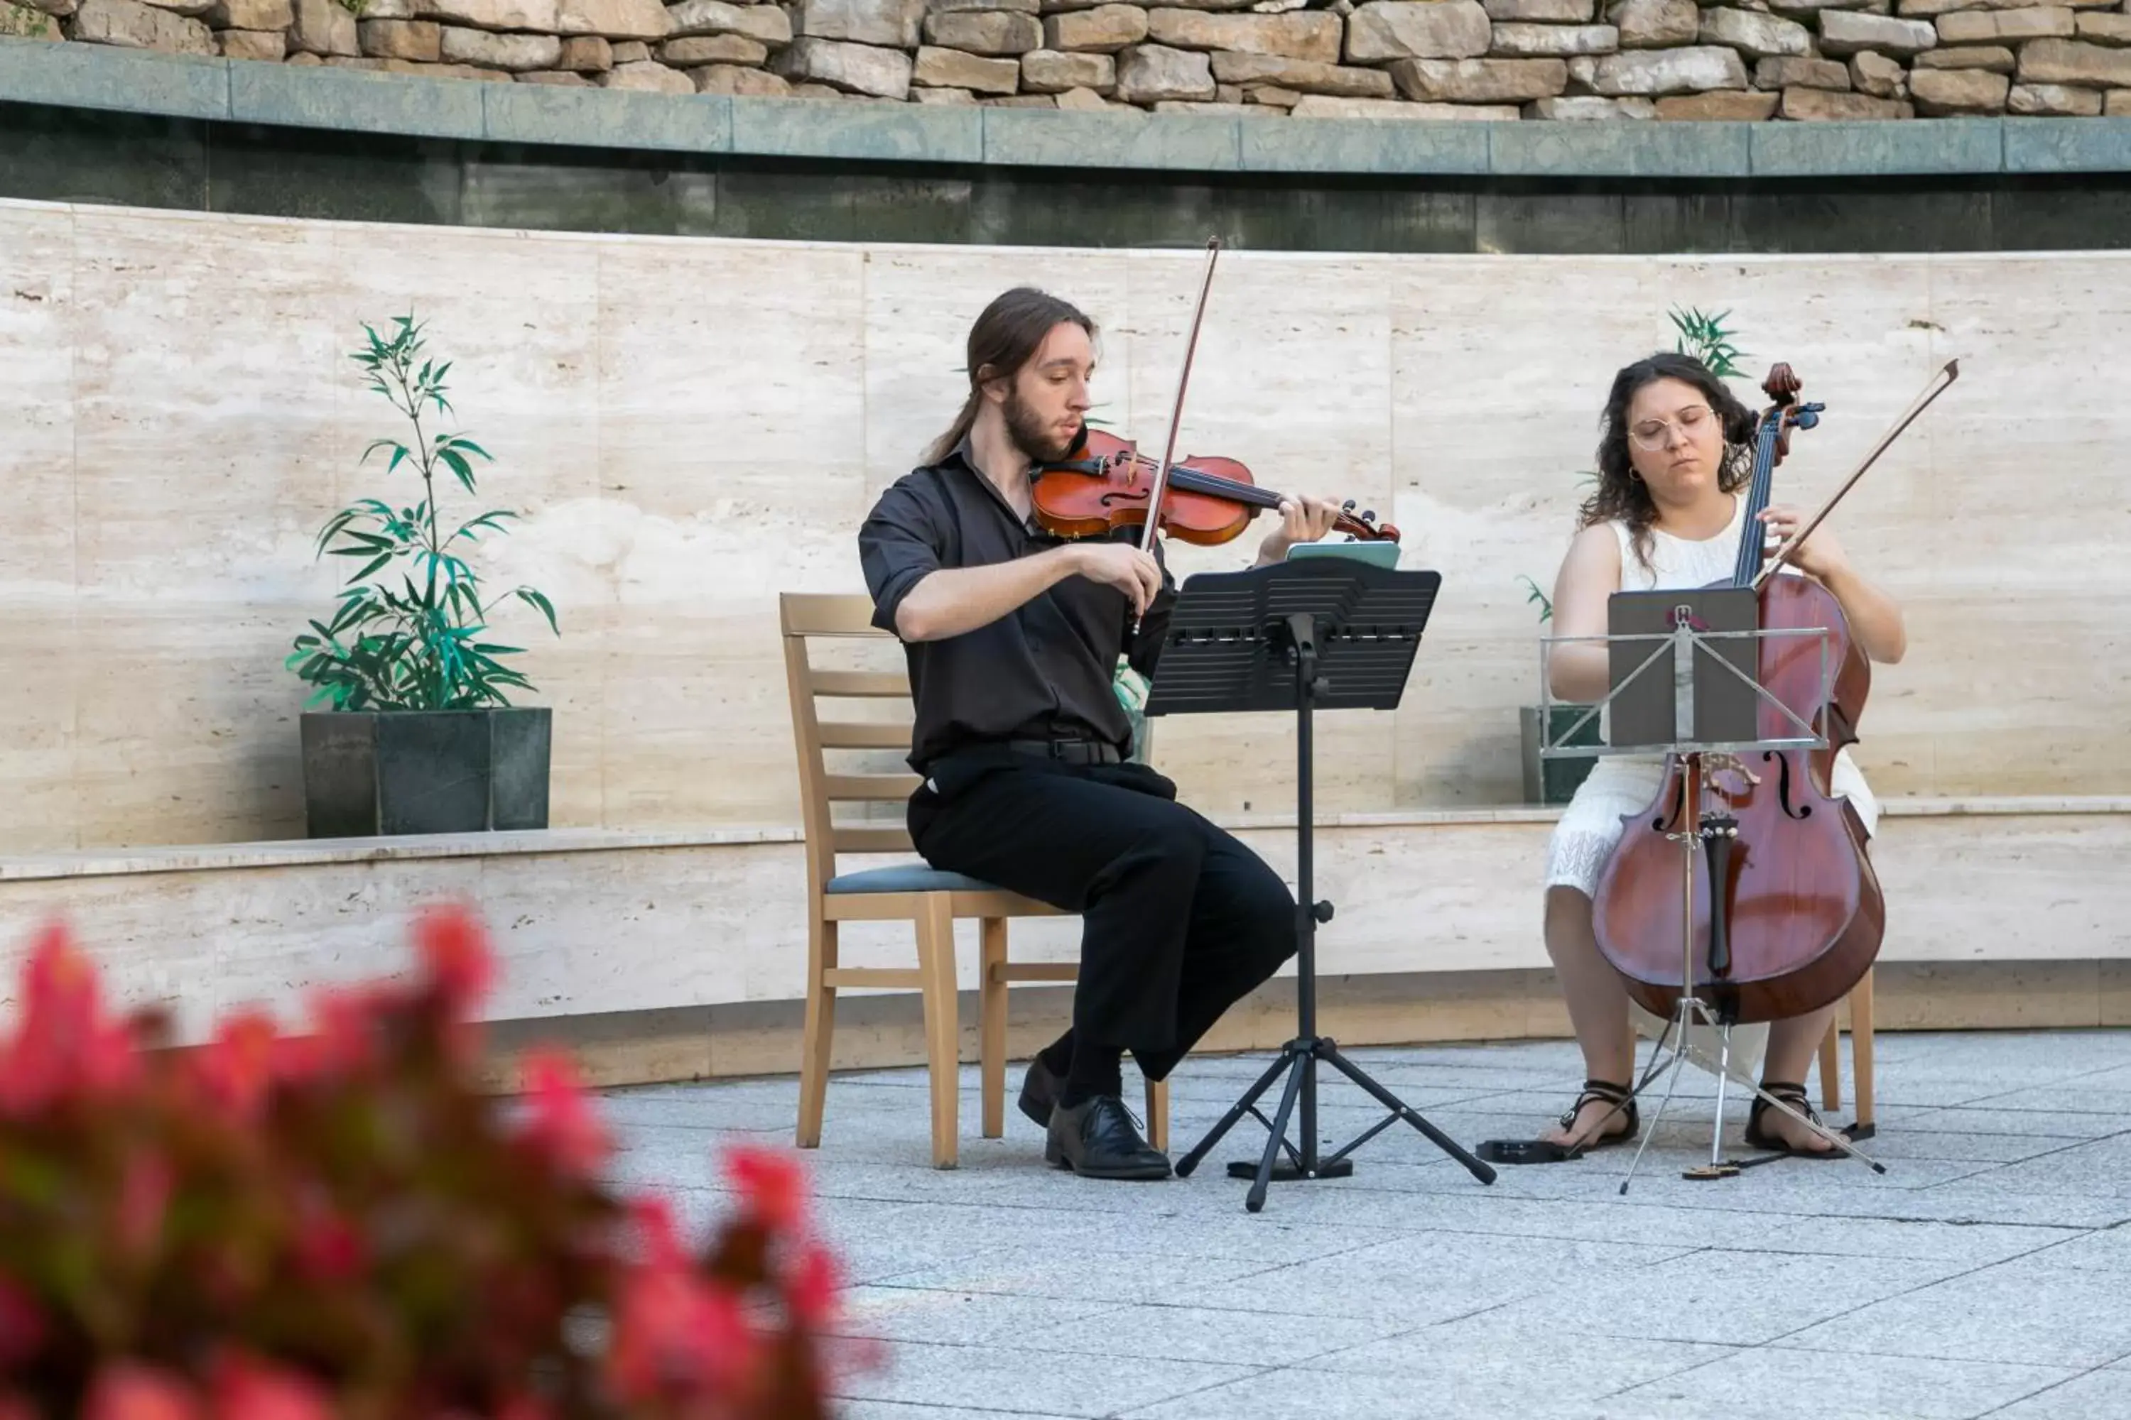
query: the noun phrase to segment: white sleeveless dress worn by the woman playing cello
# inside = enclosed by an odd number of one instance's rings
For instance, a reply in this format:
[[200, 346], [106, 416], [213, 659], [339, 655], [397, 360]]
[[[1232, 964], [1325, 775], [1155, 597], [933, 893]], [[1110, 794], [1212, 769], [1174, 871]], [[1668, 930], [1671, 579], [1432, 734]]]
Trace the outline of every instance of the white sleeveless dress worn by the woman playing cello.
[[[1622, 522], [1609, 524], [1620, 539], [1620, 581], [1624, 592], [1654, 592], [1660, 588], [1705, 588], [1711, 581], [1726, 581], [1739, 560], [1739, 530], [1745, 524], [1745, 498], [1733, 496], [1733, 519], [1711, 539], [1690, 541], [1660, 532], [1649, 532], [1649, 566], [1634, 556], [1632, 536]], [[1782, 575], [1803, 575], [1786, 566]], [[1658, 783], [1664, 779], [1664, 756], [1620, 754], [1600, 756], [1588, 779], [1577, 786], [1575, 798], [1562, 809], [1553, 837], [1547, 841], [1547, 886], [1575, 888], [1583, 896], [1598, 892], [1598, 875], [1605, 871], [1613, 845], [1624, 832], [1622, 818], [1641, 813]], [[1865, 775], [1850, 758], [1848, 749], [1835, 756], [1828, 788], [1837, 796], [1848, 796], [1871, 835], [1880, 828], [1880, 803], [1873, 798]], [[1666, 1022], [1639, 1005], [1628, 1007], [1634, 1028], [1645, 1037], [1658, 1037]], [[1760, 1071], [1762, 1054], [1769, 1045], [1769, 1026], [1735, 1026], [1730, 1033], [1730, 1064], [1745, 1075]], [[1707, 1026], [1688, 1030], [1688, 1056], [1705, 1071], [1718, 1069], [1718, 1039]]]

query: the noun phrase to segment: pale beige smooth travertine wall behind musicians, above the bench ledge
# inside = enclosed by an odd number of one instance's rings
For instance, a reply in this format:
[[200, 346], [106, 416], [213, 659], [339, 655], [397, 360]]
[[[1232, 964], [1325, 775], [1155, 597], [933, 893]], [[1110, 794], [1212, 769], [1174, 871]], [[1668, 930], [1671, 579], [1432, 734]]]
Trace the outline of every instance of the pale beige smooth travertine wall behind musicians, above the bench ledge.
[[[560, 641], [499, 620], [556, 707], [554, 824], [797, 824], [776, 594], [863, 585], [855, 530], [961, 402], [970, 319], [1021, 281], [1083, 302], [1095, 413], [1159, 447], [1202, 266], [0, 202], [0, 847], [300, 837], [281, 660], [347, 571], [320, 524], [411, 496], [358, 464], [394, 419], [347, 360], [409, 309], [497, 456], [484, 505], [526, 513], [484, 568], [560, 611]], [[1551, 583], [1605, 390], [1669, 307], [1730, 311], [1741, 394], [1784, 360], [1826, 402], [1777, 475], [1796, 502], [1963, 362], [1828, 522], [1909, 615], [1856, 752], [1880, 794], [2131, 792], [2131, 255], [1232, 251], [1178, 451], [1357, 498], [1445, 577], [1404, 705], [1319, 720], [1319, 809], [1522, 798], [1519, 577]], [[1283, 717], [1164, 720], [1155, 758], [1208, 811], [1294, 805]]]

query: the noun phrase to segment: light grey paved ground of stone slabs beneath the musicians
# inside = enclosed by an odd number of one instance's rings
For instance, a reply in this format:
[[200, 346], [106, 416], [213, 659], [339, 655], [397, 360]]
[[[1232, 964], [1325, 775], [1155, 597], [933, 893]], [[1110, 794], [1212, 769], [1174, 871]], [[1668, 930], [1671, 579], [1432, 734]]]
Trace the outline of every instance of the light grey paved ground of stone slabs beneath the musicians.
[[[1553, 1043], [1355, 1058], [1466, 1145], [1530, 1137], [1581, 1079]], [[1178, 1154], [1264, 1062], [1178, 1073]], [[850, 1331], [886, 1358], [840, 1414], [2131, 1414], [2131, 1033], [1882, 1035], [1867, 1150], [1886, 1175], [1784, 1160], [1686, 1182], [1713, 1103], [1690, 1084], [1698, 1109], [1666, 1120], [1628, 1196], [1622, 1150], [1485, 1188], [1400, 1126], [1355, 1177], [1276, 1184], [1253, 1218], [1221, 1167], [1257, 1154], [1249, 1120], [1189, 1179], [1085, 1182], [1044, 1169], [1012, 1107], [982, 1139], [965, 1071], [963, 1165], [936, 1171], [923, 1073], [842, 1075], [806, 1158]], [[791, 1079], [609, 1092], [618, 1177], [707, 1220], [722, 1199], [690, 1184], [716, 1139], [788, 1141], [795, 1101]], [[1379, 1118], [1345, 1084], [1325, 1101], [1334, 1143]]]

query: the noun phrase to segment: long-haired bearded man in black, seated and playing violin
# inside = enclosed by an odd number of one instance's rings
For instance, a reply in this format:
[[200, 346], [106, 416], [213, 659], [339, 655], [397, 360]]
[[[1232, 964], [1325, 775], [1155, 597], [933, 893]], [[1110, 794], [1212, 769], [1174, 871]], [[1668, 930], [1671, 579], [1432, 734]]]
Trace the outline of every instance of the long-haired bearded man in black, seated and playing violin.
[[[1089, 1177], [1161, 1179], [1170, 1160], [1125, 1109], [1121, 1062], [1166, 1079], [1296, 952], [1272, 869], [1132, 762], [1121, 656], [1151, 675], [1176, 596], [1134, 530], [1063, 541], [1034, 515], [1031, 468], [1083, 439], [1095, 324], [1019, 287], [970, 330], [970, 396], [927, 464], [859, 530], [874, 624], [916, 700], [910, 837], [925, 860], [1080, 913], [1072, 1026], [1029, 1064], [1021, 1111], [1044, 1158]], [[1285, 500], [1257, 562], [1325, 536], [1338, 507]], [[1134, 630], [1136, 628], [1136, 630]]]

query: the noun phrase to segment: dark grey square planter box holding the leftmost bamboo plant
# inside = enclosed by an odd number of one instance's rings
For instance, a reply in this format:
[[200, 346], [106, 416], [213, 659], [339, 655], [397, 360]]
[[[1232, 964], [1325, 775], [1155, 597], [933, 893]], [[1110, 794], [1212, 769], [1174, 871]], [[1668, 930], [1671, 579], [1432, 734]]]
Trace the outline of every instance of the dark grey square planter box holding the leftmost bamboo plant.
[[546, 828], [550, 726], [548, 707], [305, 713], [307, 832]]

